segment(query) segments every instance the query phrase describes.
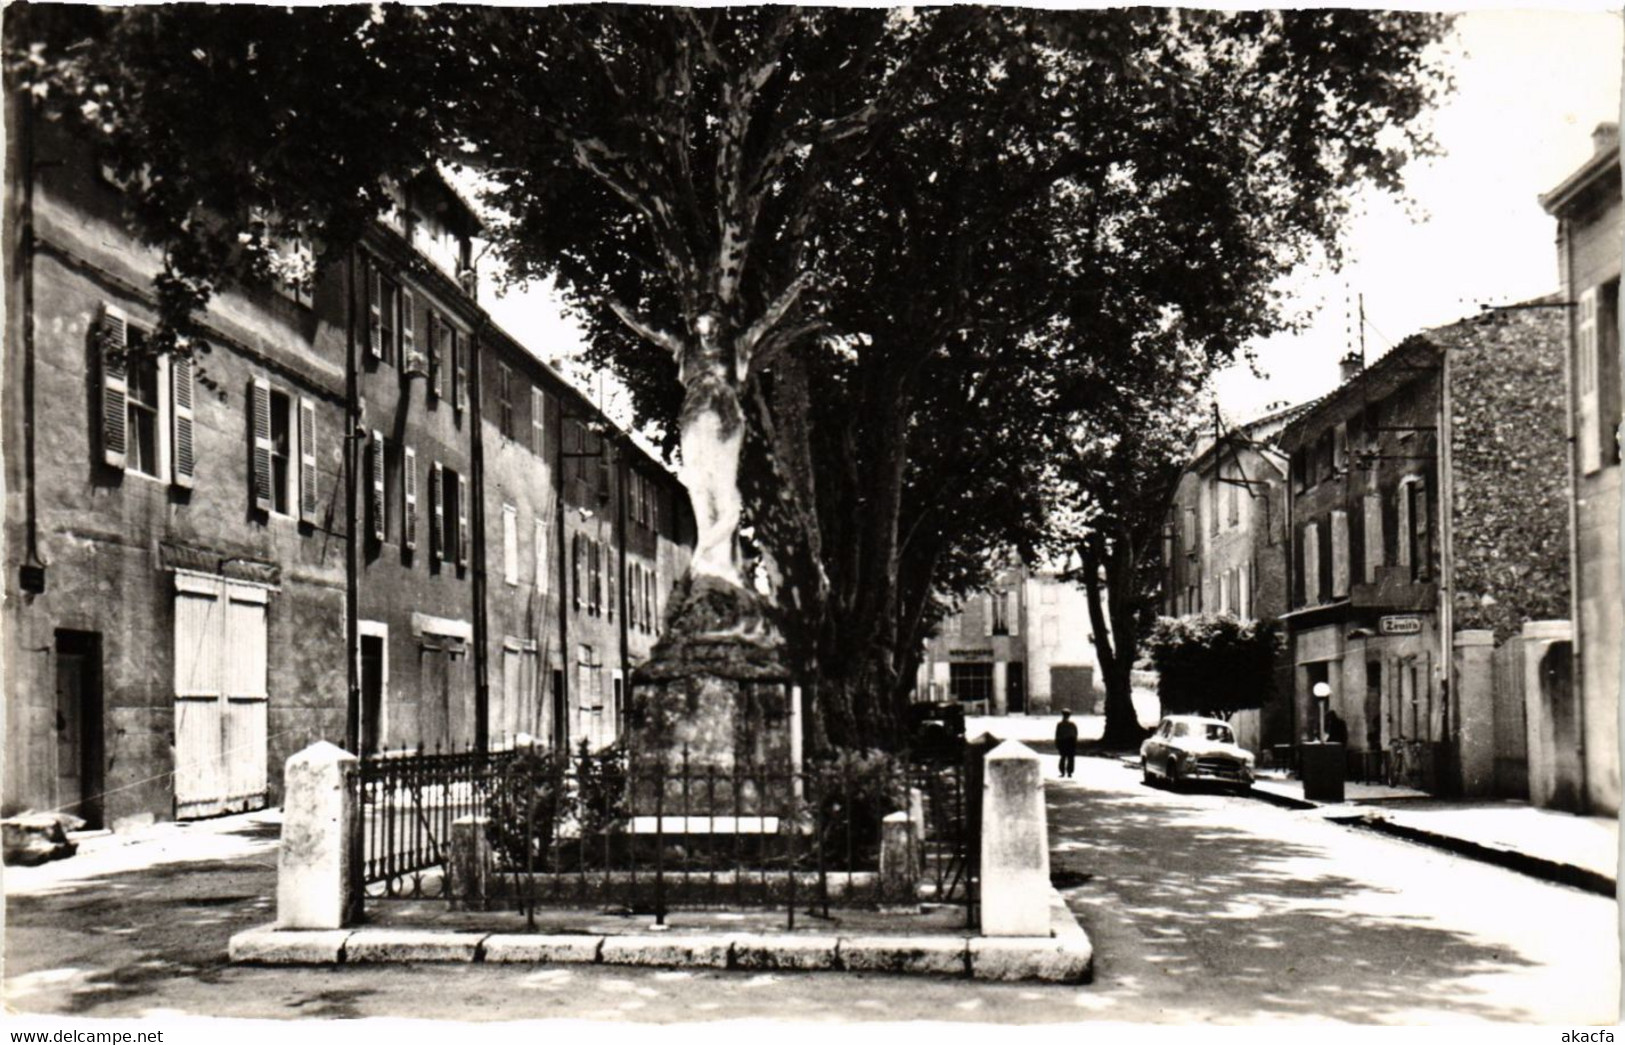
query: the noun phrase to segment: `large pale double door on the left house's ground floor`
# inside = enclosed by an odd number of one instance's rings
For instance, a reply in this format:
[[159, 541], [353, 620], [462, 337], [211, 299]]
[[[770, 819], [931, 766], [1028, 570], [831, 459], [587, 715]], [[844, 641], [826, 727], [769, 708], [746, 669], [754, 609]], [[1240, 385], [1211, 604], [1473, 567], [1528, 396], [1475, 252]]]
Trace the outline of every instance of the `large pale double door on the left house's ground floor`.
[[176, 817], [265, 806], [266, 588], [176, 574]]

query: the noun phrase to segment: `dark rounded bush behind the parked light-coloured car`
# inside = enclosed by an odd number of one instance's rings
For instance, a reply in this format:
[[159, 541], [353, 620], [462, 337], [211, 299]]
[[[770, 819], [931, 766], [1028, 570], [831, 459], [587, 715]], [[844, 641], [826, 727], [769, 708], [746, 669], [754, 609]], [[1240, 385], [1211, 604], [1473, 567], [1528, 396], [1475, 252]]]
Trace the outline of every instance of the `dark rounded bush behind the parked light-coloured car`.
[[1207, 613], [1160, 618], [1146, 648], [1165, 713], [1228, 718], [1276, 696], [1276, 655], [1285, 642], [1276, 621]]

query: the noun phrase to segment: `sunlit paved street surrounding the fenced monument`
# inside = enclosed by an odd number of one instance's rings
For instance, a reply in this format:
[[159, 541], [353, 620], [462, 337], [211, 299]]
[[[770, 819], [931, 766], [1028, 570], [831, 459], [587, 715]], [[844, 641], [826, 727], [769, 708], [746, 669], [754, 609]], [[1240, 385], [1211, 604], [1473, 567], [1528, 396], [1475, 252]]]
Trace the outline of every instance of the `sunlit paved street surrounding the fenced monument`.
[[1617, 912], [1607, 899], [1313, 813], [1146, 788], [1105, 759], [1079, 759], [1076, 780], [1053, 782], [1050, 808], [1055, 871], [1095, 941], [1089, 986], [614, 967], [231, 967], [228, 936], [271, 913], [276, 827], [263, 816], [162, 829], [203, 853], [193, 863], [143, 868], [106, 848], [49, 874], [8, 869], [5, 995], [16, 1011], [88, 1016], [1614, 1019]]

